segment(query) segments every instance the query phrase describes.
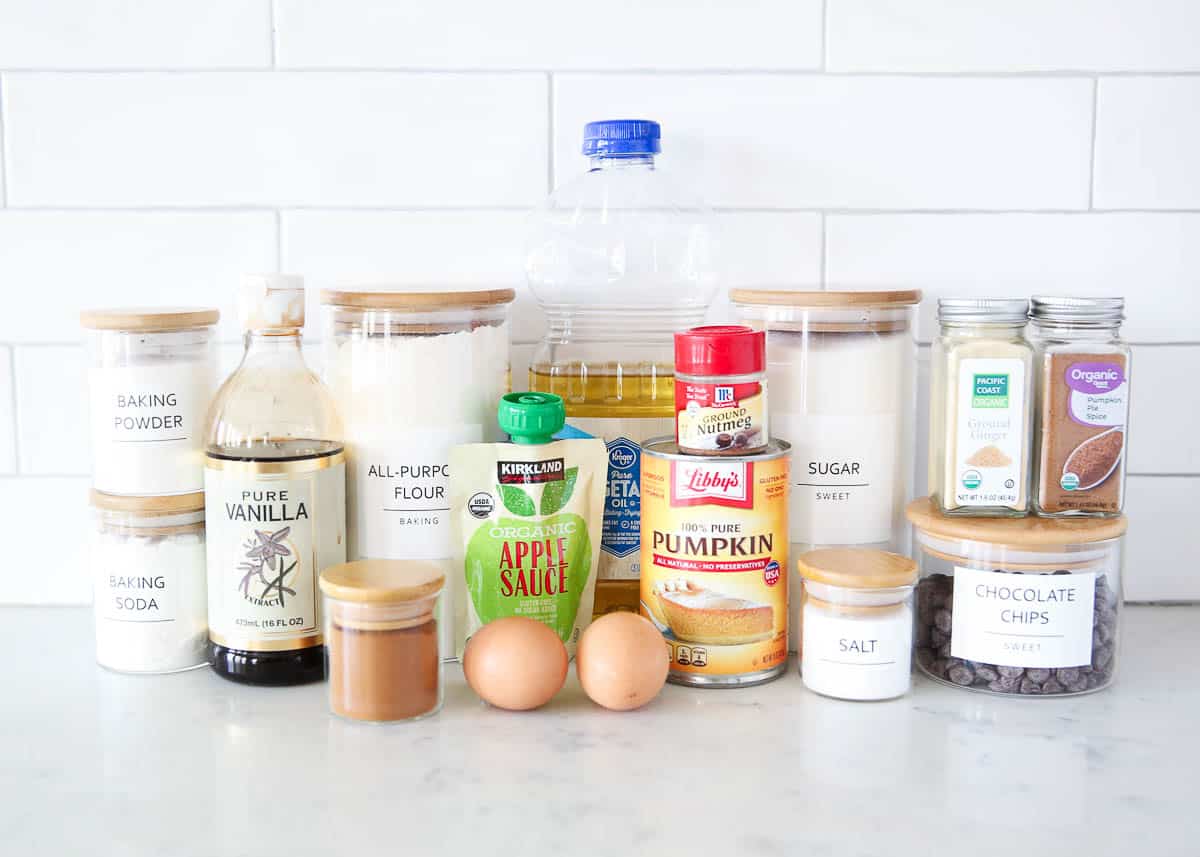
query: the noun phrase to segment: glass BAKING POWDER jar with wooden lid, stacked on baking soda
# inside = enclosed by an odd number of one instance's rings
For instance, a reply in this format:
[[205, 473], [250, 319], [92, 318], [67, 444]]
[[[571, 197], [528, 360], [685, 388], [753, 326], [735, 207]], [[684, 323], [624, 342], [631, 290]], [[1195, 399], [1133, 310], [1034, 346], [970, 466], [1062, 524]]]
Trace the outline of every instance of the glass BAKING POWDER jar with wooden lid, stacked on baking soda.
[[88, 310], [92, 486], [113, 495], [204, 490], [204, 416], [217, 388], [206, 308]]

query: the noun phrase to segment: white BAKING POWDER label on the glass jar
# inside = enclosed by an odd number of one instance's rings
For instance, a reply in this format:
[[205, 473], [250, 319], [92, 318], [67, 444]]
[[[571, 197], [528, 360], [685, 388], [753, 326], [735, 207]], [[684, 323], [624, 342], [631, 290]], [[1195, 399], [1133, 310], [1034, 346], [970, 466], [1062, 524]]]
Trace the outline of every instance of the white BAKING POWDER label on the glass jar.
[[179, 495], [204, 489], [204, 415], [216, 389], [210, 361], [90, 370], [97, 491]]

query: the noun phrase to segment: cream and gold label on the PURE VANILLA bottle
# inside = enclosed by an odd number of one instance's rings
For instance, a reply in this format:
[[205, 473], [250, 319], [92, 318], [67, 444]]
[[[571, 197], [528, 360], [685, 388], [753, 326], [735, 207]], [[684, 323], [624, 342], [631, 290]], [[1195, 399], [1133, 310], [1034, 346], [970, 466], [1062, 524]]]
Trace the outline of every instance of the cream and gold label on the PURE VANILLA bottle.
[[343, 454], [210, 455], [204, 475], [209, 637], [246, 652], [319, 646], [318, 575], [346, 562]]

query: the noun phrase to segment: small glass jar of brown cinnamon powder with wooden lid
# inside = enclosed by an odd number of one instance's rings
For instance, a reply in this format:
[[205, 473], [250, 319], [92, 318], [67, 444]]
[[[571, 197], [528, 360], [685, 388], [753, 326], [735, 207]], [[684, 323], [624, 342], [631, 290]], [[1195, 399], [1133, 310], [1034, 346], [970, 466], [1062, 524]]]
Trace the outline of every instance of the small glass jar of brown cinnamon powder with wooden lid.
[[434, 562], [362, 559], [325, 569], [330, 709], [350, 720], [396, 723], [442, 708]]

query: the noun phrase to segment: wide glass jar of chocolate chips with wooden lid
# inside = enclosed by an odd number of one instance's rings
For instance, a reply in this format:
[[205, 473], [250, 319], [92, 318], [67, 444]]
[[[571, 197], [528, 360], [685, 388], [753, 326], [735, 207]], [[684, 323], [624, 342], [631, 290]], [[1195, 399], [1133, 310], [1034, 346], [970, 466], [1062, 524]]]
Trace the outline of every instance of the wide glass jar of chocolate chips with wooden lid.
[[1061, 696], [1116, 675], [1127, 520], [968, 519], [908, 504], [918, 669], [972, 690]]

